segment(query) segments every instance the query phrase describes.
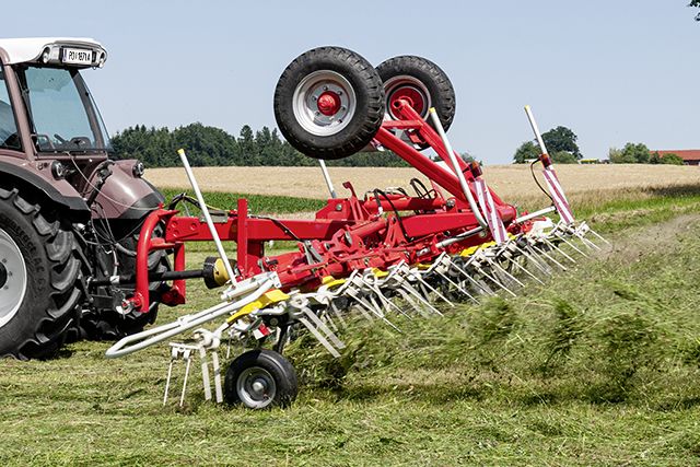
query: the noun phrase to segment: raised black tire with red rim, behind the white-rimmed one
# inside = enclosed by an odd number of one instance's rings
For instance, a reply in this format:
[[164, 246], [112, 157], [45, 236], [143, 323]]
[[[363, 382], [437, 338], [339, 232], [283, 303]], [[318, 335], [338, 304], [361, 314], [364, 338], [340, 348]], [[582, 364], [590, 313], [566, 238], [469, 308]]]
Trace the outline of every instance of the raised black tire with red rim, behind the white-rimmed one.
[[435, 107], [445, 131], [452, 126], [457, 106], [455, 90], [447, 74], [435, 63], [427, 58], [405, 55], [383, 61], [376, 67], [376, 71], [384, 82], [386, 108], [390, 118], [394, 118], [390, 103], [401, 91], [410, 89], [425, 100], [420, 109], [417, 108], [421, 117], [427, 119], [428, 109]]

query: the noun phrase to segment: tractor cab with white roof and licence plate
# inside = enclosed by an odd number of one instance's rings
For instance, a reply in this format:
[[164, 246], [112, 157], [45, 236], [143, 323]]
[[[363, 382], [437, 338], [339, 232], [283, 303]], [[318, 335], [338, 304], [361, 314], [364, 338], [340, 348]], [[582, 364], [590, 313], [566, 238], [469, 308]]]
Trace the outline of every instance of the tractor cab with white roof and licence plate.
[[106, 156], [109, 138], [80, 73], [106, 59], [89, 38], [0, 39], [0, 151]]

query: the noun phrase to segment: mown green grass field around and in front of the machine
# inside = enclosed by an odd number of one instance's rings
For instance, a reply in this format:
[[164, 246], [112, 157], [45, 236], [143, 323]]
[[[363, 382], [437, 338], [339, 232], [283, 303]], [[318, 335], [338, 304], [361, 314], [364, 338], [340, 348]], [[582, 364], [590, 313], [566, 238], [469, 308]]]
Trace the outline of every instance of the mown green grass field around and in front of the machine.
[[[205, 402], [197, 376], [161, 407], [164, 347], [2, 361], [0, 464], [698, 465], [700, 187], [616, 189], [574, 206], [612, 246], [547, 287], [402, 334], [353, 323], [339, 360], [298, 341], [287, 410]], [[160, 322], [217, 300], [189, 293]]]

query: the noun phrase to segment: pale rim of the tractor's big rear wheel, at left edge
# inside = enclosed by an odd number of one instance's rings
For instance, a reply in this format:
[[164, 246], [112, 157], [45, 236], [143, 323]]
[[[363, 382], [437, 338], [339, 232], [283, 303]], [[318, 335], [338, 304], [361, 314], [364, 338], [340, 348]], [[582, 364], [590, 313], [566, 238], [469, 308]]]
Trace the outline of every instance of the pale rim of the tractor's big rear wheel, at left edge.
[[18, 313], [26, 293], [24, 257], [10, 234], [0, 229], [0, 327]]

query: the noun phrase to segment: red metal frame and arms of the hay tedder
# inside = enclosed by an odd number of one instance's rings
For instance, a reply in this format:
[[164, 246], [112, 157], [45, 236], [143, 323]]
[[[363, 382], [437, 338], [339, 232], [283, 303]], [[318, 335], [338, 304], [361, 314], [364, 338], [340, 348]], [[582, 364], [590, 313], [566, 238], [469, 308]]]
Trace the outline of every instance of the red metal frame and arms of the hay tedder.
[[[375, 136], [376, 142], [404, 159], [452, 197], [445, 198], [440, 192], [434, 198], [382, 194], [361, 200], [352, 186], [346, 183], [343, 186], [352, 195], [345, 199], [329, 199], [314, 220], [252, 217], [248, 214], [247, 200], [238, 199], [236, 209], [226, 213], [225, 221], [215, 222], [214, 225], [222, 241], [236, 242], [240, 279], [262, 271], [277, 271], [282, 289], [314, 287], [326, 276], [346, 277], [354, 269], [386, 269], [399, 261], [429, 261], [444, 250], [438, 246], [441, 241], [478, 230], [479, 223], [469, 209], [457, 176], [402, 141], [393, 131], [407, 131], [411, 140], [428, 143], [450, 164], [440, 136], [407, 101], [398, 100], [392, 105], [394, 115], [400, 119], [384, 121]], [[459, 156], [457, 161], [476, 196], [472, 182], [480, 175], [479, 167], [467, 165]], [[513, 223], [515, 208], [503, 203], [495, 194], [492, 195], [504, 224], [511, 231], [518, 229]], [[415, 213], [399, 215], [401, 211]], [[389, 213], [384, 217], [382, 212]], [[150, 252], [173, 250], [173, 269], [180, 271], [185, 269], [185, 244], [212, 240], [206, 222], [194, 217], [176, 215], [178, 213], [176, 210], [161, 208], [147, 218], [137, 250], [136, 290], [133, 296], [126, 300], [125, 306], [132, 306], [143, 313], [149, 310]], [[163, 237], [153, 236], [159, 224], [165, 225]], [[264, 244], [271, 240], [298, 241], [299, 252], [266, 256]], [[481, 236], [471, 235], [452, 243], [448, 248], [450, 252], [458, 252], [490, 240], [489, 232], [483, 232]], [[185, 280], [174, 280], [162, 302], [170, 305], [182, 304], [185, 303]]]

